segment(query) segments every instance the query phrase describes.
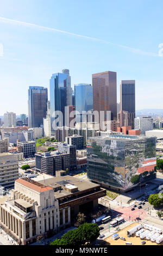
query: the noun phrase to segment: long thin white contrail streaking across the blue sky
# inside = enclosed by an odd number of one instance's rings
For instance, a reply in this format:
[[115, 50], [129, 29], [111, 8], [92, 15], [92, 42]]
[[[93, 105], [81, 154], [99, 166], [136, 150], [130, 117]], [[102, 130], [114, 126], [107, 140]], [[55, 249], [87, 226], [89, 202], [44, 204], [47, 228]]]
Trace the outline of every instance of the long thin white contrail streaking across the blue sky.
[[79, 35], [79, 34], [67, 32], [67, 31], [62, 31], [62, 30], [59, 30], [59, 29], [56, 29], [56, 28], [39, 26], [39, 25], [36, 25], [36, 24], [33, 24], [33, 23], [11, 20], [11, 19], [7, 19], [7, 18], [4, 18], [4, 17], [0, 17], [0, 22], [10, 23], [11, 25], [35, 27], [35, 28], [38, 28], [38, 29], [45, 29], [46, 31], [53, 31], [53, 32], [59, 32], [59, 33], [63, 33], [63, 34], [73, 35], [75, 37], [80, 37], [80, 38], [84, 38], [84, 39], [99, 41], [99, 42], [105, 43], [105, 44], [115, 45], [117, 47], [121, 47], [123, 49], [126, 49], [126, 50], [128, 50], [130, 52], [133, 52], [133, 53], [136, 53], [136, 54], [159, 57], [158, 53], [146, 52], [146, 51], [142, 51], [140, 49], [136, 49], [136, 48], [129, 47], [129, 46], [126, 46], [126, 45], [116, 44], [116, 43], [112, 43], [110, 41], [106, 41], [106, 40], [102, 40], [102, 39], [98, 39], [98, 38], [87, 37], [86, 35]]

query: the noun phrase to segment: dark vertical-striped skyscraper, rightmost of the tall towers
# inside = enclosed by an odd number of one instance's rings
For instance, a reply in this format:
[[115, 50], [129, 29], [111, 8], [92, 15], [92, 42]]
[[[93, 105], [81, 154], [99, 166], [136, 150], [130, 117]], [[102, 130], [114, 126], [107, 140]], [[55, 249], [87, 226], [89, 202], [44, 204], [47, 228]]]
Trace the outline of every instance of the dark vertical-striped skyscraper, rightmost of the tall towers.
[[129, 126], [134, 129], [135, 80], [122, 80], [120, 85], [121, 110], [129, 112]]

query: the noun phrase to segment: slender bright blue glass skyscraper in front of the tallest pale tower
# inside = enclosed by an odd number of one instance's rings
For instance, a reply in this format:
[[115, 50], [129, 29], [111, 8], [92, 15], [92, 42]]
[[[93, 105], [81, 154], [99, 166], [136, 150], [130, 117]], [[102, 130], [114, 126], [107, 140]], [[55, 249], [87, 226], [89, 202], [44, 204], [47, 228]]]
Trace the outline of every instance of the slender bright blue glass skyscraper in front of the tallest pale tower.
[[[52, 74], [50, 79], [51, 100], [51, 134], [55, 135], [57, 127], [65, 125], [65, 106], [67, 106], [67, 74]], [[59, 115], [57, 111], [62, 113]]]

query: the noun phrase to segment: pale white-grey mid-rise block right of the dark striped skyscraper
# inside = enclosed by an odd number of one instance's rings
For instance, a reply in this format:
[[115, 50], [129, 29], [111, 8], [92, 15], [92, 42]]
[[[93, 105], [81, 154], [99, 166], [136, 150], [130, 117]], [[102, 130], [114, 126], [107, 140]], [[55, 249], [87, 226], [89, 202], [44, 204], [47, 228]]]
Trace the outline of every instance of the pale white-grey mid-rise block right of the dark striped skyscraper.
[[153, 118], [151, 116], [136, 117], [135, 130], [140, 130], [141, 135], [146, 135], [147, 130], [153, 130]]

